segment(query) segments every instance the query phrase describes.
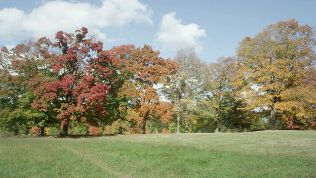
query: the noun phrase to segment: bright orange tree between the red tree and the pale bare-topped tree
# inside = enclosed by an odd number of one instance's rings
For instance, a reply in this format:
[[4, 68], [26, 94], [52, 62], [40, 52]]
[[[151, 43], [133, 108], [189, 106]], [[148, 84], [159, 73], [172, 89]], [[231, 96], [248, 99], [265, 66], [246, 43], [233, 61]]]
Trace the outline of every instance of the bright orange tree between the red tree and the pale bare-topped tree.
[[143, 124], [145, 134], [147, 121], [154, 117], [163, 123], [172, 119], [172, 106], [160, 100], [155, 87], [166, 85], [177, 67], [170, 59], [159, 57], [159, 51], [149, 45], [133, 49], [126, 59], [124, 67], [131, 75], [127, 75], [118, 95], [128, 101], [120, 108], [127, 120]]

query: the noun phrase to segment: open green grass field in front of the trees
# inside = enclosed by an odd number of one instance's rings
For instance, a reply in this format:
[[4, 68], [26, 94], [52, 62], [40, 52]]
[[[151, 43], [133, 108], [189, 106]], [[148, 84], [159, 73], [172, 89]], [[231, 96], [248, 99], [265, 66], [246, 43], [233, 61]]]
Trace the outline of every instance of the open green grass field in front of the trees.
[[316, 178], [316, 132], [0, 138], [0, 178], [88, 177]]

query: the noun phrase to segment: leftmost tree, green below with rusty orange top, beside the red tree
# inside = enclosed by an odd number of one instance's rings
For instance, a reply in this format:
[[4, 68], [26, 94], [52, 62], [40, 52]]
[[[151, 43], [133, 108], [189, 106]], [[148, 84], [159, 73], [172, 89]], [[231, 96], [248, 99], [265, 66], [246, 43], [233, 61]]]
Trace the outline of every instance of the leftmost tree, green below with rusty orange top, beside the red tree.
[[49, 61], [45, 61], [40, 45], [44, 44], [27, 39], [16, 45], [12, 51], [2, 48], [1, 66], [4, 78], [1, 80], [1, 93], [6, 93], [2, 95], [2, 99], [6, 101], [3, 102], [1, 113], [7, 113], [2, 118], [10, 118], [7, 121], [16, 127], [23, 126], [19, 128], [23, 130], [23, 134], [27, 134], [30, 127], [39, 126], [39, 135], [43, 135], [47, 120], [45, 113], [31, 108], [35, 94], [28, 86], [32, 78], [49, 73]]

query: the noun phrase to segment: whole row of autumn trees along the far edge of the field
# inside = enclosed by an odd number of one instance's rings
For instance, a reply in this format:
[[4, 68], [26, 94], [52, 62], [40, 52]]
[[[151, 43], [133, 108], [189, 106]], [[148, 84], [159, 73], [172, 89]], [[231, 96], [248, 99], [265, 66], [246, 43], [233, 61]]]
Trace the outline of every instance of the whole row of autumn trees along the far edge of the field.
[[0, 52], [0, 134], [316, 129], [315, 29], [280, 21], [216, 63], [181, 48], [115, 46], [88, 30]]

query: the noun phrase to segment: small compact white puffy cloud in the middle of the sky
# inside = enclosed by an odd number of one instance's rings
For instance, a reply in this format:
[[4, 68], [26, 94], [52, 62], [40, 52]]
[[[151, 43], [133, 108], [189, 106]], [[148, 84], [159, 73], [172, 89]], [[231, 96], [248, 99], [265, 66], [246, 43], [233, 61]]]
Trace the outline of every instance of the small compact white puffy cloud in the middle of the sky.
[[199, 26], [195, 23], [183, 25], [175, 15], [175, 12], [165, 14], [160, 22], [155, 40], [162, 44], [162, 50], [195, 47], [197, 52], [201, 52], [203, 46], [198, 39], [206, 36], [205, 30], [199, 29]]

